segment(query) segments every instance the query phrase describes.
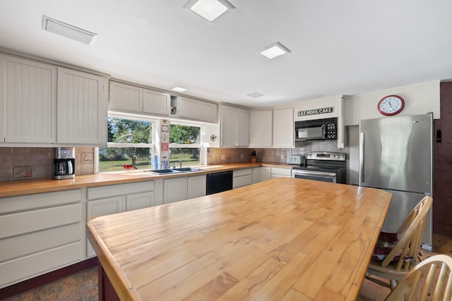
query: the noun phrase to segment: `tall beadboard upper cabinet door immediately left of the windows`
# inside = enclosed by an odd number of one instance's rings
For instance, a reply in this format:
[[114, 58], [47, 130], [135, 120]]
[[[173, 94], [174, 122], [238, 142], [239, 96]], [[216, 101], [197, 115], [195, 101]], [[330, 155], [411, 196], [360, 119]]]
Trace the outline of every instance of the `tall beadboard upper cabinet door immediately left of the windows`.
[[107, 145], [107, 78], [58, 68], [58, 142]]

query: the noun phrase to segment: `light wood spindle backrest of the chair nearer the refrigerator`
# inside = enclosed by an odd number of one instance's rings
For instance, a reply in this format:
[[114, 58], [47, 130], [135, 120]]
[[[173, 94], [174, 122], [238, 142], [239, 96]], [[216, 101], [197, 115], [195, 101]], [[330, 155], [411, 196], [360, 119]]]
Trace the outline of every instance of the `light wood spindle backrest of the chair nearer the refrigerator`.
[[388, 266], [393, 260], [397, 261], [397, 271], [409, 271], [418, 262], [418, 254], [421, 246], [422, 235], [424, 234], [427, 212], [432, 207], [432, 197], [425, 196], [412, 209], [410, 215], [405, 219], [397, 233], [401, 238], [388, 256], [383, 259], [381, 266]]

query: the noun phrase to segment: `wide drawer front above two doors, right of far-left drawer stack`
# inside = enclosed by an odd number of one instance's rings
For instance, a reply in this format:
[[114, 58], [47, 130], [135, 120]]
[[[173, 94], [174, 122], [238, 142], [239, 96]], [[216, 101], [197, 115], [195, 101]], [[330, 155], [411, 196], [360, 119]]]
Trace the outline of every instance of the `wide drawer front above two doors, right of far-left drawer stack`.
[[117, 195], [128, 195], [136, 192], [154, 190], [154, 181], [107, 185], [88, 188], [88, 199], [100, 199]]

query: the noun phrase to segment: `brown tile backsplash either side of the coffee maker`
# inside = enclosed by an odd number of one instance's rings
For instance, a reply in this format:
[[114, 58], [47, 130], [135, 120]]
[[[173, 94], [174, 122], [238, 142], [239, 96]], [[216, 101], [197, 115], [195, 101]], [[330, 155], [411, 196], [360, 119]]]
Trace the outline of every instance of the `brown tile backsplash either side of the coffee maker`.
[[[0, 147], [0, 181], [51, 178], [54, 147]], [[94, 173], [94, 148], [76, 147], [76, 175]]]

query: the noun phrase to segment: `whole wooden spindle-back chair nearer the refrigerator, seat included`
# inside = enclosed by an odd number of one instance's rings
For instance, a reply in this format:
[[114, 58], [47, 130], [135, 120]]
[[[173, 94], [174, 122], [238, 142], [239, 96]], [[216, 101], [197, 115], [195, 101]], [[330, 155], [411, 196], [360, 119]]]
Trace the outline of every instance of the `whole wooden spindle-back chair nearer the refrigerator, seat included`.
[[[426, 196], [421, 199], [398, 229], [397, 234], [400, 238], [391, 252], [383, 260], [371, 260], [366, 275], [369, 281], [392, 290], [396, 287], [397, 281], [400, 281], [415, 264], [420, 262], [419, 250], [427, 221], [427, 212], [432, 207], [432, 202], [432, 197]], [[388, 279], [389, 283], [374, 276]]]

